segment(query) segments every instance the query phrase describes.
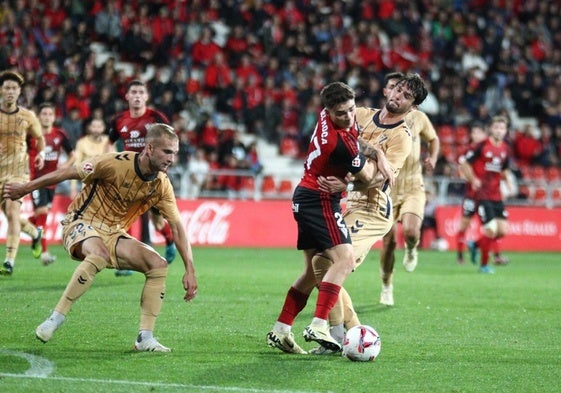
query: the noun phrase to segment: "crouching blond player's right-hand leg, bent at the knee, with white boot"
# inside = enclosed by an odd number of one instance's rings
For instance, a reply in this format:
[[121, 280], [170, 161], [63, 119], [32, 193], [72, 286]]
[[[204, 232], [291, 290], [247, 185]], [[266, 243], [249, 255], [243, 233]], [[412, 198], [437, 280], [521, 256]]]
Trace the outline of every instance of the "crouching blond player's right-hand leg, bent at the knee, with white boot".
[[139, 333], [134, 344], [137, 351], [170, 352], [154, 338], [166, 290], [167, 262], [150, 246], [132, 237], [121, 237], [115, 247], [120, 269], [134, 270], [146, 277], [140, 299]]

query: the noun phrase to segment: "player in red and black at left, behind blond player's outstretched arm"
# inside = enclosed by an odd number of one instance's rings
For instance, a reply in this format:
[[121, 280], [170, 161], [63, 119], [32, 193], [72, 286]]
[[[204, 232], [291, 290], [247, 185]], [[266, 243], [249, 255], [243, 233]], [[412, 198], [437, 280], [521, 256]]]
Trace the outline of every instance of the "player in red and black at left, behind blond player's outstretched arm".
[[[59, 165], [59, 159], [62, 151], [68, 156], [68, 160], [61, 165], [67, 167], [74, 162], [73, 146], [70, 138], [62, 129], [54, 127], [56, 114], [55, 106], [52, 103], [46, 102], [39, 106], [39, 113], [37, 115], [41, 130], [43, 131], [43, 138], [45, 139], [45, 161], [41, 169], [35, 169], [33, 179], [46, 175], [47, 173], [55, 171]], [[33, 151], [33, 146], [30, 147]], [[56, 185], [47, 188], [41, 188], [33, 191], [31, 194], [33, 200], [33, 208], [35, 215], [30, 218], [30, 221], [39, 228], [45, 228], [47, 223], [47, 215], [49, 207], [53, 203], [55, 196]], [[51, 255], [47, 248], [47, 239], [41, 238], [41, 262], [44, 265], [49, 265], [55, 261], [55, 257]]]

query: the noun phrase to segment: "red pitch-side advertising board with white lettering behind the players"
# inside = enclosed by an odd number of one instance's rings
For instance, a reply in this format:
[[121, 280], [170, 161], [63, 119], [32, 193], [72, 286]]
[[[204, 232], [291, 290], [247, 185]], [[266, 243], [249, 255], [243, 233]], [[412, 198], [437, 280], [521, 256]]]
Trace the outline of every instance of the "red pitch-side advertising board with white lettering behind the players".
[[[60, 243], [62, 220], [69, 199], [55, 197], [45, 228], [46, 238]], [[179, 200], [179, 210], [191, 242], [195, 246], [223, 247], [295, 247], [296, 224], [292, 218], [290, 200], [230, 201], [223, 199]], [[22, 214], [32, 212], [25, 199]], [[561, 251], [561, 209], [508, 207], [509, 235], [501, 248], [512, 251]], [[451, 247], [460, 223], [461, 211], [456, 206], [442, 206], [436, 212], [440, 235]], [[137, 231], [138, 228], [134, 228]], [[155, 244], [163, 238], [152, 230]], [[468, 238], [477, 237], [479, 220], [474, 218]], [[0, 241], [6, 239], [7, 223], [0, 217]], [[22, 235], [22, 241], [29, 238]], [[378, 247], [376, 245], [375, 247]]]

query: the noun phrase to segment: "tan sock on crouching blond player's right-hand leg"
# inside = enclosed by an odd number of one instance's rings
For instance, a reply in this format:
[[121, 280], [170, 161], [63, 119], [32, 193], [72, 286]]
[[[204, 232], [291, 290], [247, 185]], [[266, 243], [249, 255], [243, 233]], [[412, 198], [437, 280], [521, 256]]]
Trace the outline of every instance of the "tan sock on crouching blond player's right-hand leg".
[[167, 274], [167, 267], [145, 273], [146, 282], [140, 298], [140, 330], [154, 330], [166, 292]]

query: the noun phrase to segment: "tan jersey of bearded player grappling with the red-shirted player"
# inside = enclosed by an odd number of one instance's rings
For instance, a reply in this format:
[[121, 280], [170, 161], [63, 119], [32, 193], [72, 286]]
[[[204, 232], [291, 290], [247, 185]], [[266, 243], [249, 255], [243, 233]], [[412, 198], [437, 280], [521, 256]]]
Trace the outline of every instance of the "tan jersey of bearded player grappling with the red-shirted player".
[[[380, 109], [357, 108], [359, 136], [372, 145], [380, 146], [394, 173], [399, 174], [405, 159], [411, 153], [412, 138], [405, 121], [385, 125], [379, 122]], [[347, 206], [378, 208], [386, 206], [390, 189], [370, 188], [367, 192], [353, 191], [347, 197]]]

